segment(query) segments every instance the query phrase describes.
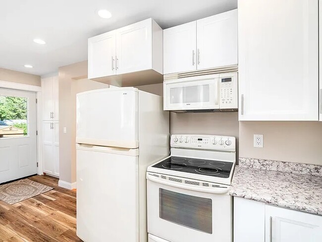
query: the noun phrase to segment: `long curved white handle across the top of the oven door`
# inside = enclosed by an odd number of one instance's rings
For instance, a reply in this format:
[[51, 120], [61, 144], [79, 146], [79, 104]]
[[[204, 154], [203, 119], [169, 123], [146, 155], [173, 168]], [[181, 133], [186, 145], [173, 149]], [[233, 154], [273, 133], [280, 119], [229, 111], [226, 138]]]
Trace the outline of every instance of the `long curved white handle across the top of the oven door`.
[[207, 186], [200, 186], [200, 185], [191, 185], [191, 184], [180, 184], [179, 182], [171, 182], [169, 180], [155, 177], [151, 174], [147, 174], [147, 179], [152, 182], [157, 182], [163, 185], [173, 186], [185, 190], [191, 191], [200, 191], [200, 192], [207, 192], [207, 193], [214, 193], [214, 194], [225, 194], [229, 191], [229, 187], [207, 187]]

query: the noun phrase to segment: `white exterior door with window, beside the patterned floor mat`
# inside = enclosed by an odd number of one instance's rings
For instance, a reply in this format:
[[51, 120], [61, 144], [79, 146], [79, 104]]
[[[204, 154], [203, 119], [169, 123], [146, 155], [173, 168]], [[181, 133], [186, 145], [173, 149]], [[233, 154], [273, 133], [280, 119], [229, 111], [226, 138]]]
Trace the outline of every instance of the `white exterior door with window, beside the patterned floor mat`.
[[[7, 108], [11, 114], [3, 112]], [[0, 109], [0, 119], [11, 120], [7, 126], [21, 128], [18, 134], [0, 133], [0, 183], [37, 174], [36, 93], [0, 88]]]

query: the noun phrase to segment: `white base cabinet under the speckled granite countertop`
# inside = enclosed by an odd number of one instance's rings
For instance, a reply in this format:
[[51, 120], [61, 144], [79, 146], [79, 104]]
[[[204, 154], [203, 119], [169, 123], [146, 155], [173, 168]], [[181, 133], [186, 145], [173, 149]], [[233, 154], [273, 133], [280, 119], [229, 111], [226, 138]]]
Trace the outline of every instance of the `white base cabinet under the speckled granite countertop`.
[[321, 242], [322, 216], [234, 198], [234, 242]]

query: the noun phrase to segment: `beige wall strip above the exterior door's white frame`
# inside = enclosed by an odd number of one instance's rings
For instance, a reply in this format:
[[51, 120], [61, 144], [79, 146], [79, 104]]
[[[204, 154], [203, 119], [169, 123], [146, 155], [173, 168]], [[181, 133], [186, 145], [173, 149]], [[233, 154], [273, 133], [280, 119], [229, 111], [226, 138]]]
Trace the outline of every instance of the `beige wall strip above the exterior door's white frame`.
[[0, 68], [0, 81], [10, 81], [33, 86], [41, 86], [40, 76], [20, 71]]

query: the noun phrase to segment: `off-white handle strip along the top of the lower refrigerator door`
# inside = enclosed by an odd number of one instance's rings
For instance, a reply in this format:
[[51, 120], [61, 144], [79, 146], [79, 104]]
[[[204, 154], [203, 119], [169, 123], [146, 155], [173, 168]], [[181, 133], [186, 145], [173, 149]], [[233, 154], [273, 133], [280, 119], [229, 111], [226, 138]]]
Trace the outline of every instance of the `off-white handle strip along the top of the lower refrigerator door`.
[[128, 155], [128, 156], [138, 156], [139, 149], [127, 149], [119, 147], [105, 147], [105, 146], [96, 146], [91, 144], [76, 144], [76, 150], [87, 150], [94, 152], [103, 152], [117, 155]]

